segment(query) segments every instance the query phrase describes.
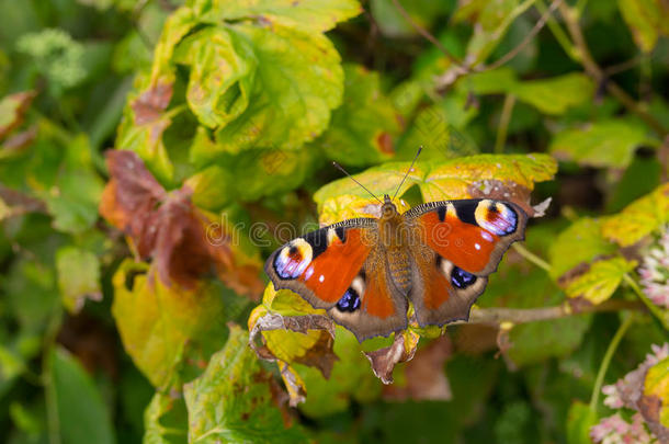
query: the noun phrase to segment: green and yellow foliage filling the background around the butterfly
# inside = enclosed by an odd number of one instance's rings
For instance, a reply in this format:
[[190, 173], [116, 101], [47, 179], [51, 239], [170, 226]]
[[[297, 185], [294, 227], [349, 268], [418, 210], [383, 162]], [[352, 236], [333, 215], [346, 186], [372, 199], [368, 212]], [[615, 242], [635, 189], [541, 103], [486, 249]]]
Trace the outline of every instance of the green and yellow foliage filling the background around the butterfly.
[[[661, 0], [0, 0], [0, 440], [589, 442], [602, 382], [667, 340], [635, 270], [669, 224], [668, 26]], [[362, 353], [392, 341], [340, 328], [336, 362], [322, 331], [265, 332], [279, 362], [258, 360], [248, 327], [314, 310], [259, 301], [280, 239], [252, 223], [360, 215], [329, 162], [389, 193], [419, 146], [408, 205], [552, 197], [475, 309], [529, 321], [413, 329], [429, 371], [393, 386]], [[181, 285], [124, 237], [112, 148], [238, 239], [246, 281]], [[669, 402], [662, 368], [646, 395]]]

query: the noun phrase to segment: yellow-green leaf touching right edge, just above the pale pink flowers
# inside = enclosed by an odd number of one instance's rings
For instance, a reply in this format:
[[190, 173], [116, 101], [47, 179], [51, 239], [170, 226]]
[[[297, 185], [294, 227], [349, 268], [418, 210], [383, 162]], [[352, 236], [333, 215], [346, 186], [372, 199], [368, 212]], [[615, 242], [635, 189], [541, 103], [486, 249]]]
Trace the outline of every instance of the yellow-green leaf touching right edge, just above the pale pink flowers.
[[621, 213], [606, 218], [604, 237], [628, 247], [669, 224], [669, 183], [637, 198]]

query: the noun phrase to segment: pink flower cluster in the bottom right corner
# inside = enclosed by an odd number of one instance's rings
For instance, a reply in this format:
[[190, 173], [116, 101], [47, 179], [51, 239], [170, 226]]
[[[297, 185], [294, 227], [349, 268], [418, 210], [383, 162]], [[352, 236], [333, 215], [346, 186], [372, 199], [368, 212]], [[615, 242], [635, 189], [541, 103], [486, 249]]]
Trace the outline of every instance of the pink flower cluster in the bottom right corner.
[[[606, 396], [604, 405], [611, 409], [628, 409], [637, 410], [637, 401], [643, 396], [644, 378], [648, 368], [669, 357], [669, 344], [662, 346], [651, 345], [653, 353], [646, 355], [646, 358], [639, 366], [626, 374], [615, 384], [602, 387], [602, 392]], [[590, 429], [590, 437], [596, 443], [602, 444], [655, 444], [658, 440], [648, 433], [647, 424], [642, 414], [636, 411], [631, 422], [625, 420], [620, 412], [604, 418], [599, 424]]]

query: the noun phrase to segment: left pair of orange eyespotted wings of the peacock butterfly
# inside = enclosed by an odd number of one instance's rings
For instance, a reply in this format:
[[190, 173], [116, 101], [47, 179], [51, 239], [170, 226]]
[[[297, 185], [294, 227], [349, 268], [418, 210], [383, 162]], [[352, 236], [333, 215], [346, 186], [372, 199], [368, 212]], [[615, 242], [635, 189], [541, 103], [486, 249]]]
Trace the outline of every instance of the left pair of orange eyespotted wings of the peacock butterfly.
[[406, 328], [407, 300], [388, 278], [376, 219], [350, 219], [293, 239], [265, 272], [362, 341]]

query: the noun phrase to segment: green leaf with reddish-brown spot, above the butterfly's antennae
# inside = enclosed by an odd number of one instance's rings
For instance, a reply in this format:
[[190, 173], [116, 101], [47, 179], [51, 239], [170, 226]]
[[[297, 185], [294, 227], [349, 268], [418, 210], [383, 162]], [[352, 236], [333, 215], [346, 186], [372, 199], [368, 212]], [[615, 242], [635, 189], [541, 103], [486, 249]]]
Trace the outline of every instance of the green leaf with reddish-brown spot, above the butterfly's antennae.
[[399, 135], [398, 114], [381, 90], [379, 77], [358, 65], [344, 66], [342, 105], [332, 122], [314, 141], [328, 159], [344, 164], [364, 166], [387, 160]]

